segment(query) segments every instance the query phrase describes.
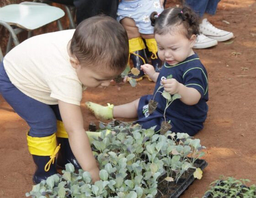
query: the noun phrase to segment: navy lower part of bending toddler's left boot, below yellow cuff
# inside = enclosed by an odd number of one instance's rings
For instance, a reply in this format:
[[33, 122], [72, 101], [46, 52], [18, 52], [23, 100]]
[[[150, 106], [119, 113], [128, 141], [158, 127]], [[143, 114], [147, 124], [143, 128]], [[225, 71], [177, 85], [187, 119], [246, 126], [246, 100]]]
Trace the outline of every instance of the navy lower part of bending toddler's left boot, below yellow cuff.
[[33, 182], [34, 183], [40, 183], [42, 180], [47, 179], [48, 177], [57, 174], [56, 170], [56, 163], [50, 164], [50, 169], [48, 171], [45, 171], [45, 165], [49, 162], [50, 156], [38, 156], [38, 155], [32, 155], [33, 160], [37, 166], [37, 169], [33, 175]]

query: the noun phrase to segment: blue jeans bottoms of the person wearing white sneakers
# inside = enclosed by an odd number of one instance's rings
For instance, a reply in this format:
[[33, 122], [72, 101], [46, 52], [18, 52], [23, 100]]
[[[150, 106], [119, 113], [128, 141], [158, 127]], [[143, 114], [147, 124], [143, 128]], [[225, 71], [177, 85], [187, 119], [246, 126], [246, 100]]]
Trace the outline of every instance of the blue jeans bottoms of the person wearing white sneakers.
[[204, 13], [215, 15], [219, 1], [220, 0], [186, 0], [185, 5], [188, 5], [194, 12], [202, 17]]

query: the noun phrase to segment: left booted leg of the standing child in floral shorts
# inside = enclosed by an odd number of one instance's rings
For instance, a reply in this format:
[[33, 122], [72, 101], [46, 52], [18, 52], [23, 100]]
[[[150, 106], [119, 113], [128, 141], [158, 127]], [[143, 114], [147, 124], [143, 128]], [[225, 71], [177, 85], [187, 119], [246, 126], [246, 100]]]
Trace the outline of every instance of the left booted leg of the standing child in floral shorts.
[[136, 81], [140, 81], [144, 76], [144, 72], [140, 69], [140, 66], [148, 63], [145, 53], [146, 47], [139, 33], [139, 29], [132, 18], [125, 17], [120, 20], [120, 23], [123, 25], [128, 34], [129, 52], [130, 58], [133, 61], [133, 66], [140, 71], [138, 76], [134, 76], [133, 74], [129, 74], [128, 76], [136, 79]]

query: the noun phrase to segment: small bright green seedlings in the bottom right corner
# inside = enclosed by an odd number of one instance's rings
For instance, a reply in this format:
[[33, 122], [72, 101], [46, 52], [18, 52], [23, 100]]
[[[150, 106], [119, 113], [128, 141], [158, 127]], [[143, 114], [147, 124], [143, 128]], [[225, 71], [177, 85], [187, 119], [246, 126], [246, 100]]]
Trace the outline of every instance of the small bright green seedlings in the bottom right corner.
[[245, 186], [249, 179], [235, 179], [232, 177], [220, 179], [210, 184], [210, 189], [205, 192], [204, 198], [255, 198], [256, 185]]

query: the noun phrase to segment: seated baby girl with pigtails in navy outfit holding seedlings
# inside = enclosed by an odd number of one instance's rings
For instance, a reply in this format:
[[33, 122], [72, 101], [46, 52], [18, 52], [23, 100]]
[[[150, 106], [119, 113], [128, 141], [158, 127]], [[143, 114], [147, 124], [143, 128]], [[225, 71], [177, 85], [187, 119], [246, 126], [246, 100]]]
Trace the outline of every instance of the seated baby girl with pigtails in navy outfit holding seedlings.
[[[151, 21], [155, 24], [158, 54], [165, 63], [160, 73], [149, 64], [141, 68], [156, 82], [154, 94], [163, 84], [164, 87], [159, 91], [181, 95], [180, 99], [173, 101], [167, 108], [165, 117], [167, 121], [171, 121], [172, 132], [186, 132], [193, 136], [203, 128], [208, 112], [207, 72], [192, 50], [199, 33], [197, 15], [187, 7], [174, 7], [164, 10], [160, 15], [152, 13]], [[172, 75], [171, 79], [167, 79], [169, 75]], [[157, 92], [157, 108], [149, 115], [148, 103], [152, 97], [153, 95], [142, 96], [133, 102], [115, 107], [103, 107], [92, 102], [86, 102], [86, 105], [97, 118], [138, 117], [136, 122], [143, 128], [156, 126], [155, 131], [158, 131], [164, 121], [166, 99]]]

